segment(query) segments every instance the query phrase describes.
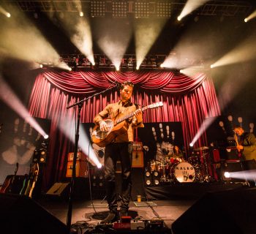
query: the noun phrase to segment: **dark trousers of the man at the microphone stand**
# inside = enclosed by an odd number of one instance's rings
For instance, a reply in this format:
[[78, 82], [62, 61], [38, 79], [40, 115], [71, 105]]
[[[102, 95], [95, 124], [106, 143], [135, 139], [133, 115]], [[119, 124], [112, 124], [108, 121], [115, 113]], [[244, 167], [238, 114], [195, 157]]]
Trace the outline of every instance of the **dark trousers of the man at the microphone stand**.
[[108, 207], [117, 212], [116, 161], [121, 161], [122, 186], [120, 209], [128, 211], [132, 190], [132, 143], [110, 143], [105, 147], [105, 181]]

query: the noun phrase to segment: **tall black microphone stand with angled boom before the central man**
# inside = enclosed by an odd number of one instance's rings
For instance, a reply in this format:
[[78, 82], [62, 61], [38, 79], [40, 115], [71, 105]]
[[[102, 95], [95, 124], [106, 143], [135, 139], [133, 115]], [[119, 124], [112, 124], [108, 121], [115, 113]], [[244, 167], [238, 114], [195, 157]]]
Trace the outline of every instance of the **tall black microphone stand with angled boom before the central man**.
[[72, 105], [69, 105], [67, 109], [71, 107], [76, 107], [78, 106], [78, 121], [77, 121], [77, 126], [75, 130], [75, 150], [74, 150], [74, 156], [73, 156], [73, 165], [72, 165], [72, 177], [71, 177], [71, 182], [70, 182], [70, 190], [69, 190], [69, 208], [67, 211], [67, 230], [70, 233], [70, 228], [71, 228], [71, 220], [72, 220], [72, 203], [73, 203], [73, 195], [74, 195], [74, 185], [75, 185], [75, 167], [76, 167], [76, 162], [77, 162], [77, 155], [78, 155], [78, 140], [79, 140], [79, 125], [80, 125], [80, 112], [83, 107], [83, 102], [85, 102], [87, 99], [91, 99], [92, 97], [98, 96], [99, 94], [104, 94], [106, 91], [109, 91], [112, 88], [115, 88], [118, 86], [118, 83], [116, 83], [115, 86], [110, 86], [104, 91], [101, 91], [99, 93], [96, 93], [94, 95], [91, 95], [90, 97], [87, 97], [85, 99], [80, 100], [79, 102], [75, 102]]

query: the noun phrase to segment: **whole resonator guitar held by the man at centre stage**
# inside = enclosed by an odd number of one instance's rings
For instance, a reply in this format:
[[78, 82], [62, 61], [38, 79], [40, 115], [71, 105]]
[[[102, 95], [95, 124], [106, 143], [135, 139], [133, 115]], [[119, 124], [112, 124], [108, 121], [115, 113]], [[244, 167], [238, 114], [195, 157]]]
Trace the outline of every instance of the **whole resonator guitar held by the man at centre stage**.
[[[151, 105], [147, 105], [146, 107], [141, 108], [142, 111], [157, 107], [162, 107], [162, 102], [156, 102]], [[107, 146], [111, 143], [118, 135], [124, 134], [127, 132], [127, 124], [125, 124], [125, 120], [127, 118], [131, 118], [135, 116], [135, 112], [129, 113], [127, 116], [122, 116], [118, 119], [105, 119], [105, 123], [107, 124], [108, 131], [103, 132], [100, 130], [99, 125], [96, 125], [91, 132], [91, 140], [93, 143], [97, 144], [100, 147]]]

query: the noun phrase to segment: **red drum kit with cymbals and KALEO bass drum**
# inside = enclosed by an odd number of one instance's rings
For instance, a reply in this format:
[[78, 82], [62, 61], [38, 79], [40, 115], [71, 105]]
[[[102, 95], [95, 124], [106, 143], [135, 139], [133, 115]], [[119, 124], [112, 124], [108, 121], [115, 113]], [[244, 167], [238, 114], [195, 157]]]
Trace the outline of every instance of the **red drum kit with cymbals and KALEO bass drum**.
[[151, 160], [146, 167], [147, 173], [159, 176], [162, 183], [209, 182], [208, 147], [195, 148], [193, 154], [184, 160], [178, 156], [165, 157], [160, 161]]

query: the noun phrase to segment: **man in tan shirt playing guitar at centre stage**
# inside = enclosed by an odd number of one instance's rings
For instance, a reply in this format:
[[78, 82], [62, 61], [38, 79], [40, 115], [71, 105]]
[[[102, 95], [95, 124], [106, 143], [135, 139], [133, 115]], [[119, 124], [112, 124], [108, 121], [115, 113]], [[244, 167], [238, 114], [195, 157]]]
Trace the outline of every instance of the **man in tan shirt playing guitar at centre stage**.
[[107, 105], [104, 110], [94, 117], [94, 124], [98, 125], [102, 132], [108, 132], [108, 124], [105, 118], [116, 120], [129, 113], [134, 113], [124, 122], [124, 132], [111, 138], [110, 143], [105, 146], [105, 181], [108, 208], [110, 210], [106, 219], [102, 223], [114, 222], [118, 217], [118, 205], [115, 187], [116, 161], [121, 161], [122, 186], [121, 186], [121, 207], [120, 217], [127, 216], [129, 200], [131, 197], [132, 180], [132, 141], [134, 138], [133, 129], [144, 127], [142, 110], [131, 102], [133, 83], [126, 81], [121, 83], [119, 88], [119, 102]]

